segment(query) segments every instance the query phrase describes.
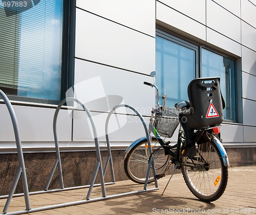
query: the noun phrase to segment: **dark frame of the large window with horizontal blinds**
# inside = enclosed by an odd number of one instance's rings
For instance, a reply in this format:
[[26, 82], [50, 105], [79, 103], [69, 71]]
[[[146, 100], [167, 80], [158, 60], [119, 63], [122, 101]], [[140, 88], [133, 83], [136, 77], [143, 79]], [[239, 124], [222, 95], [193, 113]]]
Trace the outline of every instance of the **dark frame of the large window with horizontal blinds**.
[[[58, 104], [66, 98], [66, 91], [74, 85], [75, 70], [75, 17], [76, 1], [63, 0], [63, 22], [62, 22], [62, 53], [61, 53], [61, 89], [60, 99], [39, 99], [17, 95], [7, 95], [12, 101], [29, 102], [40, 104]], [[2, 102], [1, 102], [2, 103]]]

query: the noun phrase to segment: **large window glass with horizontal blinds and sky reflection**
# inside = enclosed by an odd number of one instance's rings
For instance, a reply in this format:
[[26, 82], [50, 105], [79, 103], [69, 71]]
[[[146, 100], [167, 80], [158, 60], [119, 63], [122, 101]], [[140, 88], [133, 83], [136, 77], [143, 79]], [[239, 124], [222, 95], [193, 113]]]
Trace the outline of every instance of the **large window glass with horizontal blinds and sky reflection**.
[[0, 1], [0, 89], [7, 95], [61, 99], [65, 2], [34, 0], [14, 12]]

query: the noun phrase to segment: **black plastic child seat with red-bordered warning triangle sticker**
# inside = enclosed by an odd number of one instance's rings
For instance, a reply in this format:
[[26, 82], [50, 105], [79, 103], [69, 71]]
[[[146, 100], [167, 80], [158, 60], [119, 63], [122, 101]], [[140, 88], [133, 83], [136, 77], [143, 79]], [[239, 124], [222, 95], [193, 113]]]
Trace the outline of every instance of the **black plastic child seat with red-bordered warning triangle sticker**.
[[[190, 109], [179, 114], [180, 123], [186, 135], [184, 156], [195, 156], [195, 143], [203, 135], [203, 131], [195, 130], [219, 126], [224, 117], [225, 102], [220, 91], [220, 78], [196, 78], [187, 88]], [[191, 149], [189, 149], [191, 148]]]

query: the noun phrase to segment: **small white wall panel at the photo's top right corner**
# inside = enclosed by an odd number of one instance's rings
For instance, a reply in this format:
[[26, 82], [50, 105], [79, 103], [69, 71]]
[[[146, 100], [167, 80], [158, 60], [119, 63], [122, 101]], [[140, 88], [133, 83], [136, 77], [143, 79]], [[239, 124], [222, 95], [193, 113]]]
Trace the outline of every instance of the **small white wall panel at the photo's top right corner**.
[[[255, 3], [254, 3], [255, 4]], [[256, 28], [256, 6], [248, 0], [241, 0], [241, 18]]]

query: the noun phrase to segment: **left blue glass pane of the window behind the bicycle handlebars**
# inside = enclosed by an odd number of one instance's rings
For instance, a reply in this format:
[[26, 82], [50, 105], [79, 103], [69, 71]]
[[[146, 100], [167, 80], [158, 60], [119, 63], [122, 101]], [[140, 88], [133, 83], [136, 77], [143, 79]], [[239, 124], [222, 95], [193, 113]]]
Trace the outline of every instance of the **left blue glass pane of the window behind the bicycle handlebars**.
[[166, 106], [188, 100], [187, 85], [196, 77], [197, 49], [170, 38], [156, 37], [156, 83], [166, 93]]

